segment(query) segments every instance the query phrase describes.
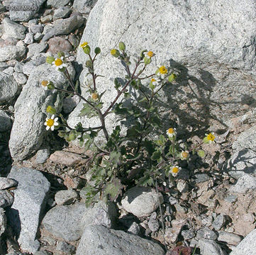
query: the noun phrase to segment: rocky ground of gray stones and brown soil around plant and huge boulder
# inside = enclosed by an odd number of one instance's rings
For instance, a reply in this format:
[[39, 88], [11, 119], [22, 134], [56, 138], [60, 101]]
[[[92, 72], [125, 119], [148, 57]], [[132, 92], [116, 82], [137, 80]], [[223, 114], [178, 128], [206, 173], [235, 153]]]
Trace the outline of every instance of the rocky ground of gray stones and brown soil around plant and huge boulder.
[[[43, 77], [67, 82], [45, 64], [60, 50], [72, 79], [79, 79], [76, 49], [96, 1], [31, 2], [37, 11], [0, 3], [0, 254], [189, 255], [194, 247], [198, 255], [254, 254], [255, 99], [245, 96], [240, 114], [228, 109], [226, 128], [207, 123], [217, 131], [216, 143], [204, 147], [204, 162], [194, 157], [184, 164], [172, 187], [133, 187], [115, 203], [86, 208], [88, 152], [55, 132], [45, 135], [41, 111], [56, 94], [38, 84]], [[224, 83], [233, 81], [232, 72], [223, 74]], [[57, 107], [68, 116], [78, 103], [61, 98]], [[190, 140], [199, 137], [191, 132]]]

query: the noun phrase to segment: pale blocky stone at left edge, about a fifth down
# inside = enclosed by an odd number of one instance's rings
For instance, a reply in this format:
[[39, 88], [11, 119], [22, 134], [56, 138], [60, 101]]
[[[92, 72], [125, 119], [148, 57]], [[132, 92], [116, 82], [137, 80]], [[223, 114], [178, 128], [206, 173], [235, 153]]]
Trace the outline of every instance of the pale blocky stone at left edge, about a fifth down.
[[0, 62], [9, 60], [21, 60], [26, 54], [26, 47], [23, 45], [7, 45], [0, 47]]

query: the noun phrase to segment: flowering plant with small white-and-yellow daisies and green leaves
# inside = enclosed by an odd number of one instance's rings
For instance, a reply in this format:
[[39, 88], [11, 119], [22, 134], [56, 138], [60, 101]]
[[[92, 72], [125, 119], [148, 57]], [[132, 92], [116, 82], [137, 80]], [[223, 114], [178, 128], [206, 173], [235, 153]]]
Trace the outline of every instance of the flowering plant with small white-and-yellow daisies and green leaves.
[[[182, 171], [182, 167], [179, 166], [180, 162], [184, 160], [189, 162], [190, 155], [196, 152], [199, 157], [205, 156], [204, 151], [199, 149], [201, 144], [191, 148], [187, 145], [179, 146], [176, 128], [168, 127], [165, 135], [160, 134], [159, 130], [163, 127], [157, 99], [164, 87], [168, 88], [172, 85], [177, 74], [165, 64], [161, 64], [155, 73], [145, 75], [145, 69], [155, 56], [154, 52], [148, 50], [140, 52], [131, 69], [130, 56], [123, 42], [119, 43], [118, 49], [111, 50], [111, 55], [125, 67], [126, 76], [123, 79], [124, 83], [121, 83], [118, 78], [114, 79], [116, 97], [103, 110], [104, 102], [101, 97], [104, 93], [99, 94], [97, 90], [96, 79], [99, 74], [94, 72], [94, 64], [101, 49], [96, 47], [94, 55], [91, 55], [88, 42], [83, 42], [80, 47], [88, 57], [86, 67], [92, 79], [92, 84], [88, 85], [89, 96], [86, 98], [79, 94], [77, 86], [73, 84], [67, 71], [65, 56], [62, 52], [58, 53], [57, 58], [48, 57], [46, 61], [67, 77], [69, 88], [57, 88], [52, 81], [42, 81], [42, 85], [47, 89], [79, 96], [84, 101], [84, 107], [79, 115], [87, 116], [87, 118], [97, 116], [100, 120], [101, 125], [96, 127], [84, 127], [82, 123], [77, 123], [74, 128], [71, 128], [62, 114], [57, 113], [52, 106], [47, 108], [47, 112], [52, 116], [45, 120], [47, 130], [59, 128], [58, 134], [67, 142], [78, 139], [84, 149], [93, 152], [85, 164], [86, 171], [89, 171], [91, 176], [89, 183], [94, 183], [93, 185], [87, 183], [84, 187], [88, 204], [94, 202], [96, 193], [101, 193], [101, 197], [107, 200], [115, 200], [128, 183], [140, 186], [172, 183], [174, 177]], [[147, 81], [148, 85], [143, 86], [143, 81]], [[129, 87], [133, 88], [138, 96], [132, 98], [127, 92]], [[123, 99], [118, 101], [121, 97]], [[130, 106], [126, 106], [126, 99], [131, 102]], [[126, 135], [121, 135], [122, 125], [116, 125], [111, 132], [107, 130], [106, 117], [109, 114], [116, 114], [121, 124], [124, 120], [130, 123]], [[55, 116], [60, 118], [60, 123]], [[106, 141], [104, 145], [98, 145], [95, 142], [101, 130]], [[152, 138], [150, 133], [158, 135]], [[203, 142], [211, 143], [214, 138], [214, 135], [210, 133], [206, 135]]]

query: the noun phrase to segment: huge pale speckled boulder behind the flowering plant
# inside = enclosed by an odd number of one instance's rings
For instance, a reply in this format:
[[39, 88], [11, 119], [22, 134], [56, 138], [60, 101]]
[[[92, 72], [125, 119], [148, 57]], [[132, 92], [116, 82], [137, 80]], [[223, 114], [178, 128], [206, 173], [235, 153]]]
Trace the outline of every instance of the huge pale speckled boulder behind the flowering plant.
[[[181, 124], [227, 128], [230, 118], [253, 107], [256, 96], [249, 86], [255, 81], [251, 74], [256, 62], [255, 10], [254, 0], [148, 0], [129, 4], [99, 0], [91, 10], [81, 42], [88, 41], [91, 49], [101, 47], [95, 68], [96, 74], [104, 76], [97, 81], [99, 92], [106, 89], [102, 97], [106, 105], [116, 96], [113, 78], [124, 77], [123, 67], [109, 52], [123, 41], [132, 55], [144, 49], [155, 52], [146, 74], [154, 73], [162, 62], [180, 73], [177, 84], [167, 87], [162, 98], [166, 109], [163, 127], [169, 125], [173, 111]], [[79, 48], [77, 61], [85, 66], [86, 60]], [[84, 69], [80, 76], [82, 84], [86, 73]], [[70, 115], [69, 125], [79, 121], [84, 127], [99, 125], [93, 118], [78, 118], [81, 108], [82, 102]], [[115, 123], [115, 116], [108, 115], [108, 130]]]

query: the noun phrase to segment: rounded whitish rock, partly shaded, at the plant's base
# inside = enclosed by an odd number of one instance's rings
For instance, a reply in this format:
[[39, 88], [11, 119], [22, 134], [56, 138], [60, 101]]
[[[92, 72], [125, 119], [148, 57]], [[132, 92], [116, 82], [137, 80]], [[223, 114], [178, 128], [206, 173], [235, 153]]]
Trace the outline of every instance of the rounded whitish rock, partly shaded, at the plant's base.
[[162, 194], [149, 187], [130, 188], [121, 200], [122, 207], [137, 217], [149, 216], [158, 208], [158, 200], [163, 203]]

